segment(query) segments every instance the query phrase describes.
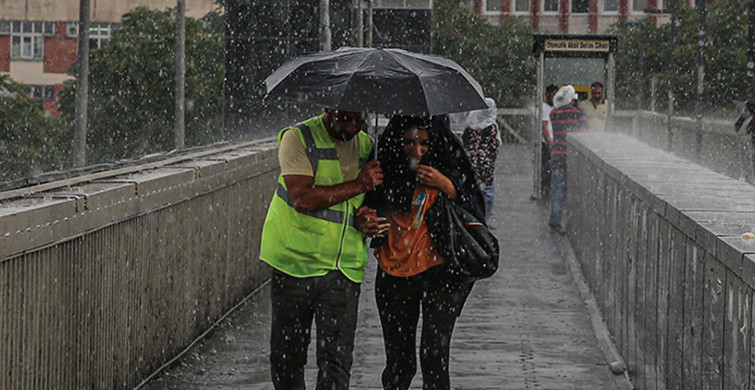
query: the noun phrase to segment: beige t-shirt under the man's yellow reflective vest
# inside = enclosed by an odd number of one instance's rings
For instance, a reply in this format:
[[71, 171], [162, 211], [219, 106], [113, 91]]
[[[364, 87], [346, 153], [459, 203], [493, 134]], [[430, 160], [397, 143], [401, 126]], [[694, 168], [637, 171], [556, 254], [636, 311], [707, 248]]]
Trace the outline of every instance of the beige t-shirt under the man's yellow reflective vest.
[[[359, 176], [359, 140], [358, 137], [350, 141], [335, 141], [338, 161], [341, 163], [343, 181], [351, 181]], [[281, 137], [278, 149], [278, 162], [281, 166], [281, 175], [304, 175], [314, 176], [312, 164], [309, 162], [307, 150], [301, 142], [299, 129], [289, 129]]]

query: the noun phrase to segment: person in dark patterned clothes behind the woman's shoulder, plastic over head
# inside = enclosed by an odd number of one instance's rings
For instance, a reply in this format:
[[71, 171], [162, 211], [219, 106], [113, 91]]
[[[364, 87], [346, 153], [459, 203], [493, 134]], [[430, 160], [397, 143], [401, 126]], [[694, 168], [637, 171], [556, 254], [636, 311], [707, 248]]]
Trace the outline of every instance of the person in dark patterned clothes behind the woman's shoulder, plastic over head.
[[490, 219], [493, 212], [493, 199], [495, 198], [495, 161], [498, 158], [498, 148], [501, 145], [501, 136], [496, 123], [495, 101], [485, 98], [488, 104], [487, 110], [469, 112], [464, 123], [464, 133], [461, 140], [472, 166], [477, 172], [483, 196], [485, 197], [485, 222]]

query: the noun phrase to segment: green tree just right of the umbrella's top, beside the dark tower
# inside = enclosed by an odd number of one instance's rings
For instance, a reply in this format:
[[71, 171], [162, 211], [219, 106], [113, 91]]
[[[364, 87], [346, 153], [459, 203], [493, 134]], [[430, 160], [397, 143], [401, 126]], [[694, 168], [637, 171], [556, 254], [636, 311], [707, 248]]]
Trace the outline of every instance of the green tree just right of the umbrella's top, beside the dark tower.
[[433, 8], [433, 51], [463, 66], [498, 107], [520, 107], [532, 99], [535, 58], [532, 28], [517, 18], [494, 26], [459, 6], [437, 0]]

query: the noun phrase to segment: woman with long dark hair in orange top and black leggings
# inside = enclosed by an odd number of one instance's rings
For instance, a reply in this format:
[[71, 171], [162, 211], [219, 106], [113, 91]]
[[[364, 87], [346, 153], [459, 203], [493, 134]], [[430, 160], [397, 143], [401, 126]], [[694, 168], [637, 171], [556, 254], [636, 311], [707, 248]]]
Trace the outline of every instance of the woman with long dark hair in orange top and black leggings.
[[380, 137], [383, 185], [366, 203], [387, 217], [387, 236], [373, 240], [379, 269], [375, 295], [385, 343], [385, 389], [408, 389], [420, 361], [425, 389], [449, 389], [451, 334], [472, 282], [444, 266], [433, 248], [433, 204], [447, 196], [482, 220], [475, 173], [447, 117], [395, 116]]

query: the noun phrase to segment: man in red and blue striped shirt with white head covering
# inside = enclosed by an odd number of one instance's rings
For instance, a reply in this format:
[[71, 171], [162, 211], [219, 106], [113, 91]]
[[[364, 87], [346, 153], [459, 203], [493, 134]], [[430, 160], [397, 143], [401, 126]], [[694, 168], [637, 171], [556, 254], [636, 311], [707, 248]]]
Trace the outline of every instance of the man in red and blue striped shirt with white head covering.
[[559, 233], [563, 232], [561, 214], [566, 198], [566, 135], [587, 127], [587, 118], [577, 106], [577, 93], [567, 85], [553, 97], [551, 126], [553, 139], [551, 147], [551, 217], [548, 226]]

